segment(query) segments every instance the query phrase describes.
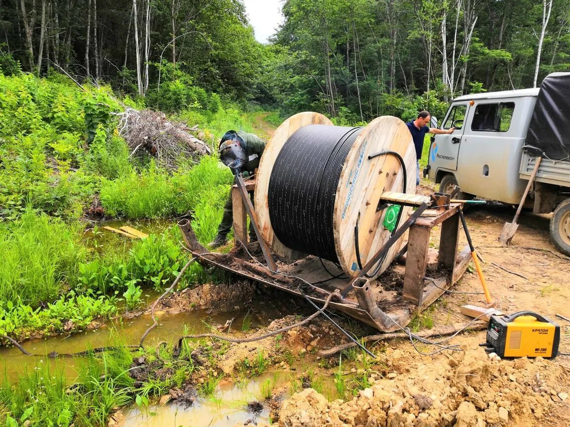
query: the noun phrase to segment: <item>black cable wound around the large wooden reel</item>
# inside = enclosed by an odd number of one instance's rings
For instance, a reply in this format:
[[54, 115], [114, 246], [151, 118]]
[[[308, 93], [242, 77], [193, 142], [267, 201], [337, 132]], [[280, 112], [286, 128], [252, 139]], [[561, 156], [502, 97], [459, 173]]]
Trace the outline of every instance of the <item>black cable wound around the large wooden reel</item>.
[[271, 225], [286, 247], [339, 261], [333, 235], [336, 190], [361, 130], [307, 125], [287, 139], [268, 187]]

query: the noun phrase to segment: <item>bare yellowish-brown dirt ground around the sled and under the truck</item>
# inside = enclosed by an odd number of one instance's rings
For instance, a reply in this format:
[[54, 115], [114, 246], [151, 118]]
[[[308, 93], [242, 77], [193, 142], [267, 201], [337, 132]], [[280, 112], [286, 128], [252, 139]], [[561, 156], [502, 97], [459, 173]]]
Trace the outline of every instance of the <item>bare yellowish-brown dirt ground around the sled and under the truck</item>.
[[[428, 193], [429, 187], [421, 192]], [[497, 237], [503, 224], [512, 220], [514, 208], [499, 203], [472, 208], [467, 224], [478, 252], [482, 255], [483, 271], [492, 295], [504, 313], [531, 310], [545, 315], [561, 326], [560, 352], [570, 353], [570, 258], [557, 252], [548, 236], [548, 215], [523, 212], [518, 232], [509, 247], [502, 247]], [[460, 247], [467, 243], [462, 235]], [[432, 233], [431, 246], [438, 247], [438, 233]], [[459, 312], [465, 304], [483, 306], [485, 301], [477, 273], [469, 269], [451, 290], [435, 302], [427, 312], [433, 326], [466, 323], [470, 319]], [[185, 295], [174, 295], [161, 307], [170, 311], [185, 304], [190, 307], [216, 307], [252, 303], [259, 298], [280, 298], [274, 290], [260, 290], [257, 285], [209, 285]], [[257, 295], [257, 296], [256, 296]], [[311, 313], [303, 301], [291, 298], [284, 305], [296, 306], [299, 313]], [[286, 312], [287, 310], [284, 310]], [[290, 325], [292, 315], [276, 318], [268, 329]], [[377, 332], [355, 321], [340, 318], [341, 325], [351, 327], [364, 336]], [[255, 335], [264, 332], [256, 331]], [[570, 425], [570, 356], [553, 360], [516, 359], [490, 360], [479, 343], [486, 331], [463, 332], [450, 340], [463, 351], [445, 351], [425, 356], [414, 350], [409, 340], [377, 343], [372, 348], [378, 361], [370, 370], [370, 388], [348, 401], [328, 401], [308, 387], [286, 401], [271, 405], [273, 427], [312, 426], [516, 426], [557, 427]], [[296, 357], [311, 355], [315, 363], [330, 366], [329, 375], [338, 370], [339, 357], [319, 356], [327, 350], [348, 342], [335, 327], [317, 318], [283, 336], [276, 348], [274, 339], [237, 344], [220, 360], [219, 368], [231, 375], [235, 364], [243, 358], [254, 358], [259, 348], [270, 355], [278, 368], [287, 369], [284, 351]], [[434, 347], [420, 344], [424, 352]], [[278, 391], [276, 391], [278, 393]], [[267, 403], [269, 404], [269, 403]], [[262, 423], [258, 424], [262, 426]]]

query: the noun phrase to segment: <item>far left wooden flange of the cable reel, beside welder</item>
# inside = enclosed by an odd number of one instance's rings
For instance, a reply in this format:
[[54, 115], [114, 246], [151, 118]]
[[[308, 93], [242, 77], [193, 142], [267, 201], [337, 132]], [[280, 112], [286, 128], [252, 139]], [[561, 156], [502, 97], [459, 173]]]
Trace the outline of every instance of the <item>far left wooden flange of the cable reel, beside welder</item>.
[[323, 116], [323, 114], [313, 112], [298, 113], [284, 121], [279, 128], [275, 130], [273, 137], [267, 143], [265, 150], [263, 150], [257, 173], [257, 186], [255, 187], [255, 212], [257, 212], [258, 215], [258, 225], [263, 234], [263, 238], [274, 253], [291, 260], [302, 258], [306, 256], [306, 254], [287, 248], [275, 236], [269, 217], [269, 180], [275, 160], [287, 142], [287, 139], [289, 139], [296, 130], [307, 125], [332, 126], [333, 123], [328, 120], [327, 117]]

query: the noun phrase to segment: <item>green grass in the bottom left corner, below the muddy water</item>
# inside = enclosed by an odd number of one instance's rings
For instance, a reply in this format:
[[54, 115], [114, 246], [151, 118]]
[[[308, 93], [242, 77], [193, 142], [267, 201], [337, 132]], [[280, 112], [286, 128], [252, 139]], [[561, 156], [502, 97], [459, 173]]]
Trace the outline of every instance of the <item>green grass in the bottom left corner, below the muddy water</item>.
[[94, 427], [107, 424], [109, 414], [134, 399], [135, 380], [129, 376], [133, 355], [126, 348], [91, 354], [80, 360], [74, 386], [67, 384], [63, 366], [40, 361], [10, 385], [0, 386], [0, 420], [12, 426]]

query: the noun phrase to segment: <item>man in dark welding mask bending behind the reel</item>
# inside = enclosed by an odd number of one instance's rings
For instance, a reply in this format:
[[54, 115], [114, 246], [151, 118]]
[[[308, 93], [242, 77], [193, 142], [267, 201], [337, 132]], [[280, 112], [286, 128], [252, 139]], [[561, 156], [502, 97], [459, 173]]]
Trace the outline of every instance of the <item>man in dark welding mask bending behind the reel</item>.
[[[241, 173], [242, 176], [253, 175], [255, 169], [259, 166], [259, 160], [265, 149], [265, 142], [253, 133], [235, 132], [235, 130], [227, 131], [219, 142], [219, 158], [222, 163], [231, 169], [234, 175]], [[250, 192], [251, 202], [253, 203], [253, 192]], [[233, 208], [230, 194], [223, 206], [222, 222], [218, 227], [218, 235], [210, 242], [210, 249], [218, 248], [227, 242], [227, 233], [230, 232], [233, 225]], [[257, 240], [253, 227], [249, 227], [250, 240]]]

